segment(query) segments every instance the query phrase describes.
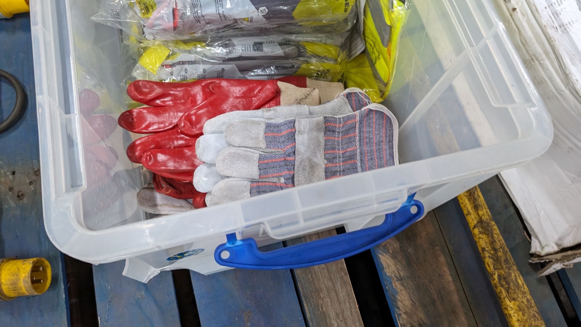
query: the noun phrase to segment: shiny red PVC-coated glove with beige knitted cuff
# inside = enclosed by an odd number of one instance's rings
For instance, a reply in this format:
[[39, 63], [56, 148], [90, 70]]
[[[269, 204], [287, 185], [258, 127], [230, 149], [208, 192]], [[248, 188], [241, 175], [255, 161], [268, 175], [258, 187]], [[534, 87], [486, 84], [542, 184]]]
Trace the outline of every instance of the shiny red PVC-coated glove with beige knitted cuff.
[[127, 93], [150, 107], [125, 111], [119, 125], [134, 133], [155, 133], [131, 143], [127, 157], [161, 176], [184, 181], [191, 181], [193, 171], [202, 164], [195, 143], [206, 120], [229, 111], [320, 101], [318, 90], [276, 80], [140, 80], [131, 83]]

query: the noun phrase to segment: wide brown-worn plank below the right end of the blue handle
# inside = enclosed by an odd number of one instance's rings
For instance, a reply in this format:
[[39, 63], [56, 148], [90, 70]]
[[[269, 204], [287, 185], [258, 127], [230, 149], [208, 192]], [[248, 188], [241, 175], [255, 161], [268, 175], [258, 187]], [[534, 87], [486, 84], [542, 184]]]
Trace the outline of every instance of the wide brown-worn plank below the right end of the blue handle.
[[371, 253], [396, 325], [477, 325], [432, 211]]

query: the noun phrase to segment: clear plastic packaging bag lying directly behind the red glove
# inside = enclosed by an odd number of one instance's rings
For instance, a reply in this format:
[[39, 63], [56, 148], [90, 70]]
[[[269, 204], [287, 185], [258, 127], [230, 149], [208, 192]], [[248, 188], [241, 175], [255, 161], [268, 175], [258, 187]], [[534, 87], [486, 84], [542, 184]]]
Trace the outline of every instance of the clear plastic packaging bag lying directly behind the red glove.
[[[278, 34], [136, 44], [131, 80], [188, 81], [207, 78], [275, 79], [306, 76], [345, 81], [347, 36]], [[136, 49], [137, 48], [137, 49]]]

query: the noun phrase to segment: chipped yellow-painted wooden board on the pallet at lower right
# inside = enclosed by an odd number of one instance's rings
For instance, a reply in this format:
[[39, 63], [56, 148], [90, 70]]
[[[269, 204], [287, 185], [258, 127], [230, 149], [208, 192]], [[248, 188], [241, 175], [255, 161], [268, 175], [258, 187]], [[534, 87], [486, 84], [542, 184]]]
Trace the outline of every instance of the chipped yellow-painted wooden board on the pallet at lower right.
[[458, 196], [496, 296], [510, 326], [544, 326], [543, 318], [478, 186]]

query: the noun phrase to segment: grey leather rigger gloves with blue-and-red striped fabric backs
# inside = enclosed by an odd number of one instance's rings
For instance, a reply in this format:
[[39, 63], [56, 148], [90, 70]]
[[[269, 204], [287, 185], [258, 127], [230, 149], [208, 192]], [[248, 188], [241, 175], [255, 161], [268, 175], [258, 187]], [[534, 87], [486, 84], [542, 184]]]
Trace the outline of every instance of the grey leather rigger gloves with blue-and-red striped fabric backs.
[[[340, 99], [350, 100], [343, 108], [351, 113], [339, 109]], [[194, 175], [196, 188], [211, 188], [206, 203], [241, 200], [396, 164], [393, 114], [371, 104], [357, 89], [347, 89], [335, 101], [335, 109], [320, 110], [318, 116], [251, 118], [228, 113], [209, 120], [198, 140], [198, 155], [216, 165], [206, 163]], [[216, 133], [206, 135], [206, 130]], [[216, 148], [221, 150], [205, 151]]]

